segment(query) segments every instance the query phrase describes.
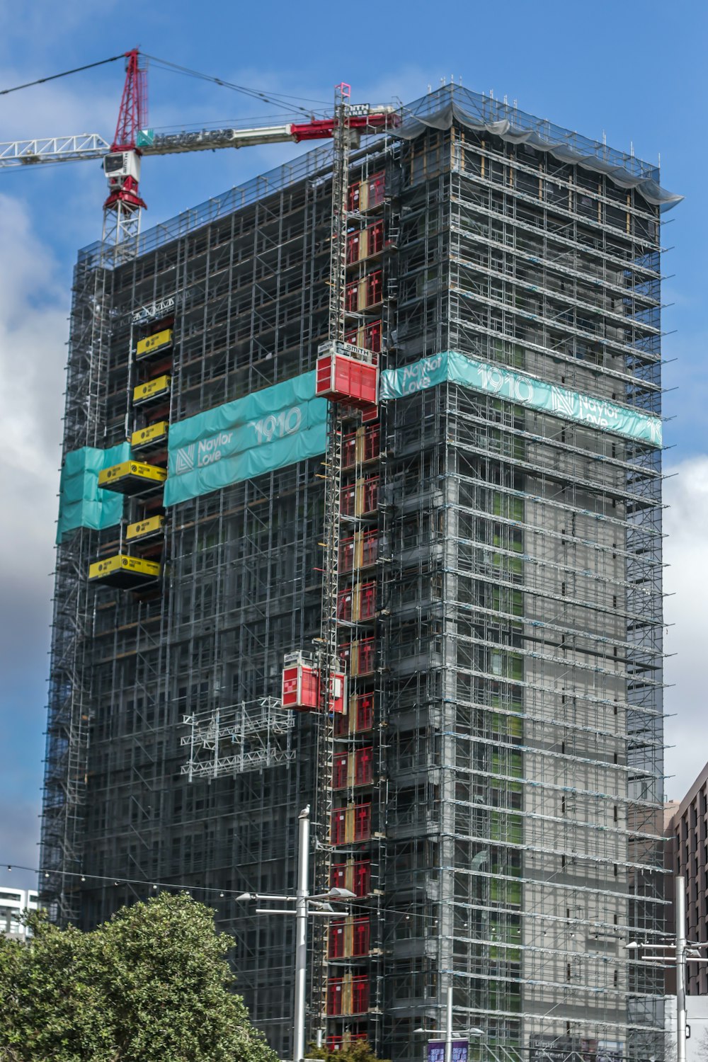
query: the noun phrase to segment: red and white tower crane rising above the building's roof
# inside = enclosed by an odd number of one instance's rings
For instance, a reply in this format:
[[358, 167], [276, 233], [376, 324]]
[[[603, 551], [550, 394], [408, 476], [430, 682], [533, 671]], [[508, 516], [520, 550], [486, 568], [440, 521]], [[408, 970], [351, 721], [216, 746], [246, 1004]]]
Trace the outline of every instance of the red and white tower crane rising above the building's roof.
[[[252, 129], [158, 133], [148, 129], [148, 67], [137, 48], [125, 52], [125, 83], [114, 138], [108, 142], [99, 133], [44, 137], [0, 142], [0, 170], [53, 162], [103, 160], [108, 195], [103, 204], [103, 237], [119, 244], [140, 232], [146, 204], [139, 192], [140, 166], [144, 155], [173, 155], [221, 148], [247, 148], [267, 143], [300, 143], [305, 140], [335, 138], [336, 114], [307, 122], [286, 122]], [[361, 104], [348, 107], [348, 129], [355, 140], [398, 122], [395, 107]]]

